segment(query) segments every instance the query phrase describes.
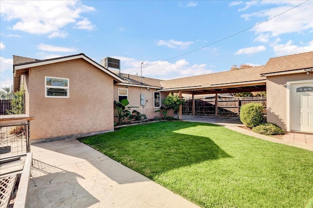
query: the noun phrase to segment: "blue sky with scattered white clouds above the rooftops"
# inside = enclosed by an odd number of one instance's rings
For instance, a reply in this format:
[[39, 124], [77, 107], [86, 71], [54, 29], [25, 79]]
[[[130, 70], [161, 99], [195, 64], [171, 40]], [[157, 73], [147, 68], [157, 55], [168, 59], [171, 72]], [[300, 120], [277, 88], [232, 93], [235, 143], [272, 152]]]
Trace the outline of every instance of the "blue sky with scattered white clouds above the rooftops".
[[115, 57], [126, 74], [143, 61], [142, 76], [159, 79], [264, 65], [270, 57], [313, 51], [313, 1], [291, 9], [302, 2], [1, 0], [0, 87], [13, 84], [12, 55], [84, 53], [98, 63]]

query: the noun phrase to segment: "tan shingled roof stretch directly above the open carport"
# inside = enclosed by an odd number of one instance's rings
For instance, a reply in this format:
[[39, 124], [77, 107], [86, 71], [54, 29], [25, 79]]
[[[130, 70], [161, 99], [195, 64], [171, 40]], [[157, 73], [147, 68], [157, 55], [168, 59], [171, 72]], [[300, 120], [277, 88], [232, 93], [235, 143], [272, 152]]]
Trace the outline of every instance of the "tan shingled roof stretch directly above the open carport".
[[189, 87], [213, 87], [214, 85], [236, 84], [266, 80], [261, 77], [264, 66], [239, 69], [234, 71], [219, 72], [207, 75], [189, 76], [178, 79], [161, 81], [163, 89], [179, 89]]

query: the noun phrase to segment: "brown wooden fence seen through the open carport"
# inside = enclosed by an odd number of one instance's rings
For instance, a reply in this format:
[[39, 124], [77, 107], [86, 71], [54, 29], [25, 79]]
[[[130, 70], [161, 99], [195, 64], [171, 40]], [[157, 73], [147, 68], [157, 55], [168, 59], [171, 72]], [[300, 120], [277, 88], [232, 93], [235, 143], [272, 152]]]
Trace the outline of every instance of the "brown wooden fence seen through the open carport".
[[[262, 103], [266, 114], [266, 97], [234, 97], [218, 99], [218, 115], [235, 116], [239, 115], [240, 109], [247, 103]], [[185, 105], [182, 106], [182, 114], [192, 114], [192, 99], [186, 99]], [[195, 114], [210, 115], [215, 114], [215, 98], [195, 99]]]

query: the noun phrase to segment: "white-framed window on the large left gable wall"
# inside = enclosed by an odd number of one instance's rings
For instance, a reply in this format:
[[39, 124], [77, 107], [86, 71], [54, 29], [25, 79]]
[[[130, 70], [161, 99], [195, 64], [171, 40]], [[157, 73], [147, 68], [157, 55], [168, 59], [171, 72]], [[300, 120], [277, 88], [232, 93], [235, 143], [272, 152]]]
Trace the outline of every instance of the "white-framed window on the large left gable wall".
[[69, 79], [45, 76], [45, 97], [69, 97]]

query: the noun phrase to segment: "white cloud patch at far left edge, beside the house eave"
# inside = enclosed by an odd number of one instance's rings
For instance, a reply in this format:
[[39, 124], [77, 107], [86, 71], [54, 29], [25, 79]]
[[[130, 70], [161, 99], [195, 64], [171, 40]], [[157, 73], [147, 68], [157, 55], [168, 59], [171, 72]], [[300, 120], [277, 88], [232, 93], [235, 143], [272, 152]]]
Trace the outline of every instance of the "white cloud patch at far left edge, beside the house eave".
[[0, 57], [0, 88], [13, 84], [13, 59]]

